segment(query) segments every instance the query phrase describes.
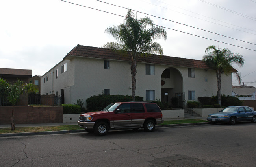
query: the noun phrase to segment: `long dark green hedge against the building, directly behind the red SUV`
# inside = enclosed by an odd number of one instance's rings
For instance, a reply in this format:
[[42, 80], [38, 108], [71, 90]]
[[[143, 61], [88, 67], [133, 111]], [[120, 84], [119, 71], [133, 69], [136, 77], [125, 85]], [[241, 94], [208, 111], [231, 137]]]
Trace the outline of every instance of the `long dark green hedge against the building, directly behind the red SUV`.
[[[87, 110], [100, 111], [106, 106], [115, 102], [132, 101], [132, 96], [129, 95], [94, 95], [86, 99]], [[143, 97], [136, 96], [135, 101], [143, 101]]]

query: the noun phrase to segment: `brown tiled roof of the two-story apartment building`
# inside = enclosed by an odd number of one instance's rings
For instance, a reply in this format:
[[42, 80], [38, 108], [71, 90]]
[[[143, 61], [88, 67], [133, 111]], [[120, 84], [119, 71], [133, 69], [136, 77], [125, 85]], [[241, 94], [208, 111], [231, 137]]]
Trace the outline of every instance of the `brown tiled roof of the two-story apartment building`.
[[[129, 57], [130, 55], [129, 53], [130, 52], [126, 53], [125, 55], [122, 55], [111, 49], [83, 46], [78, 44], [63, 59], [69, 59], [68, 57], [70, 56], [80, 56], [80, 57], [92, 57], [92, 58], [98, 58], [98, 59], [131, 61], [131, 58]], [[155, 55], [155, 54], [148, 54], [147, 57], [140, 56], [138, 57], [137, 62], [163, 64], [163, 65], [169, 65], [169, 66], [212, 69], [205, 62], [201, 60], [186, 59], [186, 58], [171, 57], [171, 56], [160, 57], [159, 55]]]

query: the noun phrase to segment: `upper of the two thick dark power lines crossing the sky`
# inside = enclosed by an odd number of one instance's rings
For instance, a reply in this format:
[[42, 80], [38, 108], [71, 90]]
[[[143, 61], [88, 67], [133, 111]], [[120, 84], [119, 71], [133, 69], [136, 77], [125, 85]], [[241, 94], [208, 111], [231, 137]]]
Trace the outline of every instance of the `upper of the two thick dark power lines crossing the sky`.
[[[100, 0], [96, 0], [96, 1], [98, 1], [98, 2], [103, 2], [103, 1], [100, 1]], [[112, 6], [121, 7], [121, 8], [123, 8], [123, 9], [128, 9], [128, 8], [126, 8], [126, 7], [122, 7], [122, 6], [110, 4], [110, 3], [108, 3], [108, 2], [103, 2], [103, 3], [109, 4], [109, 5], [112, 5]], [[133, 10], [133, 9], [131, 9], [131, 10], [132, 10], [132, 11], [136, 11], [136, 10]], [[191, 27], [191, 28], [195, 28], [195, 29], [199, 29], [199, 30], [202, 30], [202, 31], [206, 31], [206, 32], [208, 32], [208, 33], [213, 33], [213, 34], [216, 34], [216, 35], [221, 35], [221, 34], [219, 34], [219, 33], [214, 33], [214, 32], [211, 32], [211, 31], [207, 31], [207, 30], [205, 30], [205, 29], [196, 28], [196, 27], [189, 26], [189, 25], [187, 25], [187, 24], [183, 24], [183, 23], [179, 23], [179, 22], [175, 22], [175, 21], [173, 21], [173, 20], [169, 20], [169, 19], [166, 19], [166, 18], [158, 17], [158, 16], [155, 16], [155, 15], [150, 15], [150, 14], [148, 14], [148, 13], [143, 13], [143, 12], [141, 12], [141, 11], [136, 11], [136, 12], [139, 12], [139, 13], [142, 13], [142, 14], [145, 14], [145, 15], [149, 15], [149, 16], [152, 16], [152, 17], [156, 17], [156, 18], [161, 18], [161, 19], [163, 19], [163, 20], [167, 20], [167, 21], [170, 21], [170, 22], [178, 23], [178, 24], [181, 24], [181, 25], [184, 25], [184, 26], [188, 26], [188, 27]], [[226, 35], [221, 35], [221, 36], [227, 37], [227, 38], [230, 38], [230, 39], [234, 39], [234, 40], [239, 40], [239, 39], [235, 39], [235, 38], [232, 38], [232, 37], [228, 37], [228, 36], [226, 36]], [[244, 40], [239, 40], [239, 41], [241, 41], [241, 42], [246, 42], [246, 41], [244, 41]], [[253, 44], [253, 43], [251, 43], [251, 42], [246, 42], [246, 43]], [[256, 44], [253, 44], [253, 45], [256, 45]]]

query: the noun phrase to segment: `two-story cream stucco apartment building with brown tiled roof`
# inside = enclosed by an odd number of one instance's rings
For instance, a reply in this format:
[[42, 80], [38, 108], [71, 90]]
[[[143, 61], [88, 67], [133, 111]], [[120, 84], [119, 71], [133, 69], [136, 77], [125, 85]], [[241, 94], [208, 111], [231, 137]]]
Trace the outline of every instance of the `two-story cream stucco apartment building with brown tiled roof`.
[[[130, 54], [77, 45], [41, 77], [41, 94], [64, 97], [74, 104], [102, 94], [131, 95]], [[136, 95], [144, 100], [172, 97], [186, 101], [217, 94], [216, 72], [203, 61], [148, 55], [137, 59]], [[221, 94], [231, 95], [232, 76], [222, 75]]]

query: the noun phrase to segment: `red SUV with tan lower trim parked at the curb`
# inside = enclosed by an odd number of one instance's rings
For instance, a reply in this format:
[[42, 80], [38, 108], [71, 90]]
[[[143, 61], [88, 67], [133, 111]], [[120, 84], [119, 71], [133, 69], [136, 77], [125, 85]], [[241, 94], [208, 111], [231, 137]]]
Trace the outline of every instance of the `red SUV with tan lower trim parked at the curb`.
[[121, 102], [111, 103], [102, 111], [81, 114], [78, 125], [87, 132], [105, 135], [109, 128], [138, 129], [151, 132], [157, 124], [163, 123], [163, 114], [156, 103]]

